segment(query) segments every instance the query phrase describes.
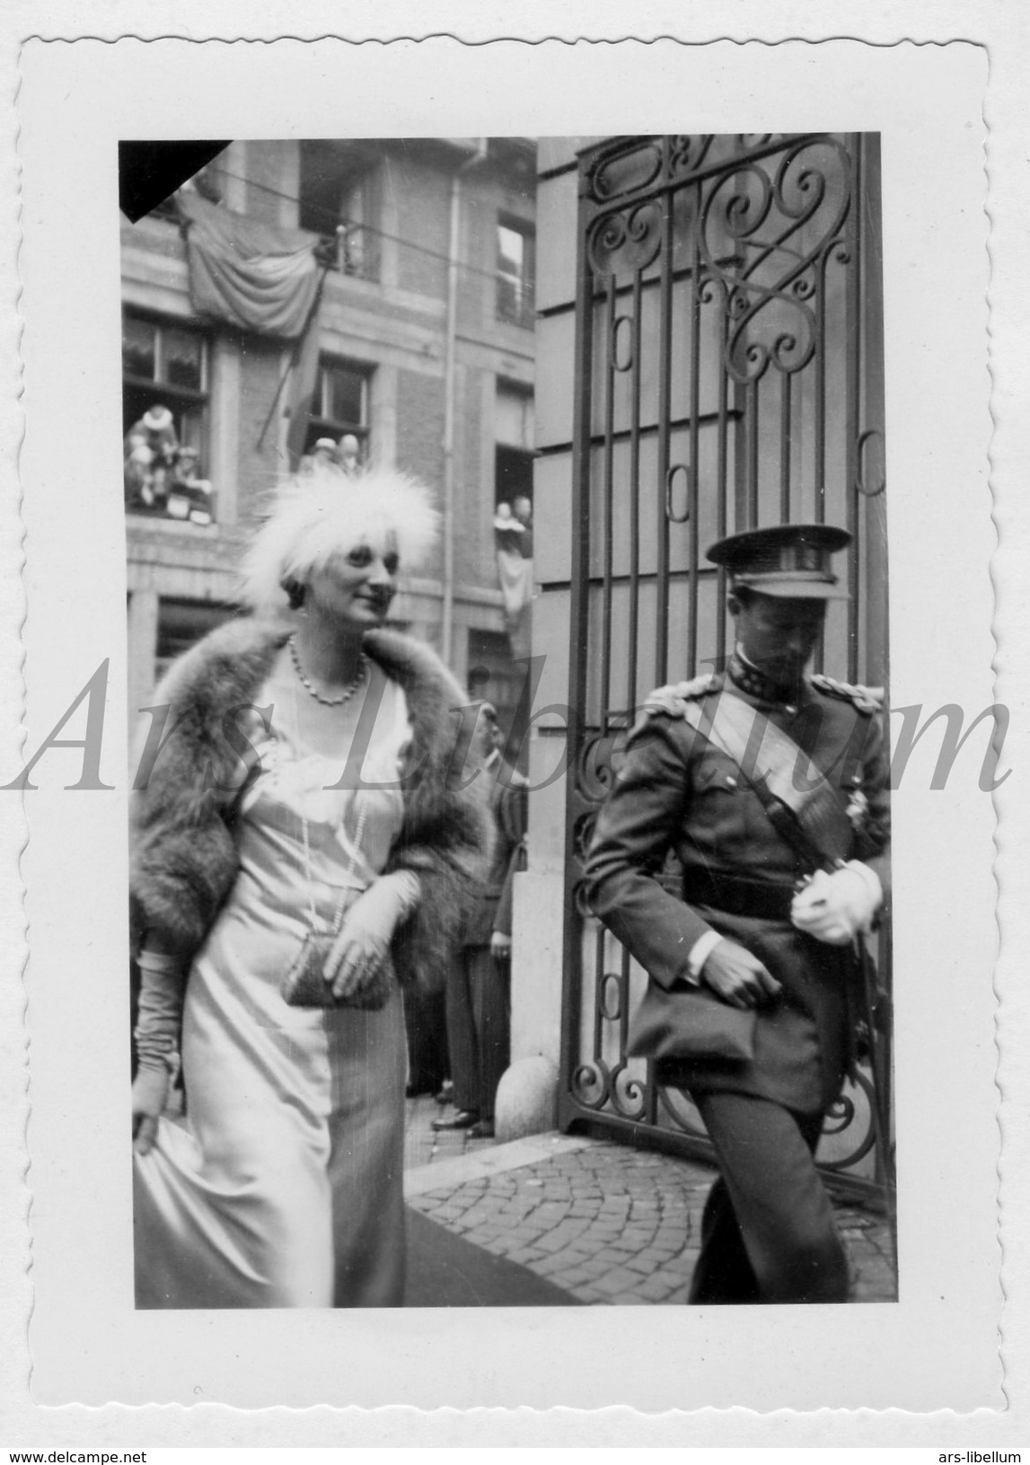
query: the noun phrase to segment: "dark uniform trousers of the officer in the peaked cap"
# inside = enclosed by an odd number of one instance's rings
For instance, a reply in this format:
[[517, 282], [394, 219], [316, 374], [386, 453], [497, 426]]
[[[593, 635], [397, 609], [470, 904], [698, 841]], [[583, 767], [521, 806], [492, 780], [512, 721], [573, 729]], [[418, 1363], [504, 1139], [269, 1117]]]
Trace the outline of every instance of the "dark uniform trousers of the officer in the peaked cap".
[[692, 1096], [719, 1162], [692, 1302], [845, 1302], [847, 1254], [815, 1149], [822, 1115], [738, 1093]]

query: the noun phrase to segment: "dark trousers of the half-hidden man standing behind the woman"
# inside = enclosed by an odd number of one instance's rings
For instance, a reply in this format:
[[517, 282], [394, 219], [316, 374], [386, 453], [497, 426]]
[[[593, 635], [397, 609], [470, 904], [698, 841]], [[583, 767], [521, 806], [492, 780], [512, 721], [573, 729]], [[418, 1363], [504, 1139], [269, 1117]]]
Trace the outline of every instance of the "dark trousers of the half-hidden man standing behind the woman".
[[447, 979], [447, 1042], [454, 1108], [494, 1118], [494, 1099], [508, 1067], [511, 1015], [508, 963], [489, 946], [462, 946]]

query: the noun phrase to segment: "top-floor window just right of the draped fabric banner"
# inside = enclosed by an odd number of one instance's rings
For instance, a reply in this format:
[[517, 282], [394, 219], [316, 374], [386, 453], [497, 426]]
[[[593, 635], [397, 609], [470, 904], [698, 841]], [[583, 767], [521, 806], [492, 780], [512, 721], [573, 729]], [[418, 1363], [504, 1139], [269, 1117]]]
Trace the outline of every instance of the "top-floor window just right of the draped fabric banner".
[[300, 144], [302, 229], [337, 239], [337, 268], [379, 278], [379, 174], [369, 155], [338, 142]]

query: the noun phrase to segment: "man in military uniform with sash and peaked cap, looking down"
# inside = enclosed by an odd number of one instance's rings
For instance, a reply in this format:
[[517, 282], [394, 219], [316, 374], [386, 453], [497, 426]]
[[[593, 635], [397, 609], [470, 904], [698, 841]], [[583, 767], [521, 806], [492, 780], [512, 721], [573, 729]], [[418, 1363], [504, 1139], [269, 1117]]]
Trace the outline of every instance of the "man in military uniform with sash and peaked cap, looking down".
[[[848, 541], [793, 524], [709, 549], [736, 650], [725, 672], [648, 699], [588, 858], [593, 913], [703, 1018], [659, 1061], [721, 1171], [693, 1302], [848, 1297], [813, 1151], [856, 1056], [860, 943], [888, 880], [888, 765], [876, 696], [806, 675], [826, 602], [844, 596], [831, 554]], [[670, 850], [683, 898], [658, 878]], [[712, 1017], [738, 1024], [738, 1050], [706, 1047]]]

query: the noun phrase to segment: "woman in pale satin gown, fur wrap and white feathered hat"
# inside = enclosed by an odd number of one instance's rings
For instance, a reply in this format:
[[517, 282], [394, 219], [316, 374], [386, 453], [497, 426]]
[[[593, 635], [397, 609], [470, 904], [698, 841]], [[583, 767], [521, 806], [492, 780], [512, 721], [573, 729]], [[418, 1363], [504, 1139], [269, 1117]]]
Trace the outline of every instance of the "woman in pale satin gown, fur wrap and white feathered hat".
[[[155, 697], [173, 731], [133, 817], [138, 1307], [403, 1301], [394, 970], [426, 980], [440, 963], [486, 841], [445, 766], [460, 690], [378, 628], [399, 555], [418, 560], [434, 527], [396, 475], [294, 481], [251, 554], [258, 614]], [[331, 996], [293, 1006], [286, 973], [334, 920]], [[185, 1121], [163, 1113], [180, 1026]]]

